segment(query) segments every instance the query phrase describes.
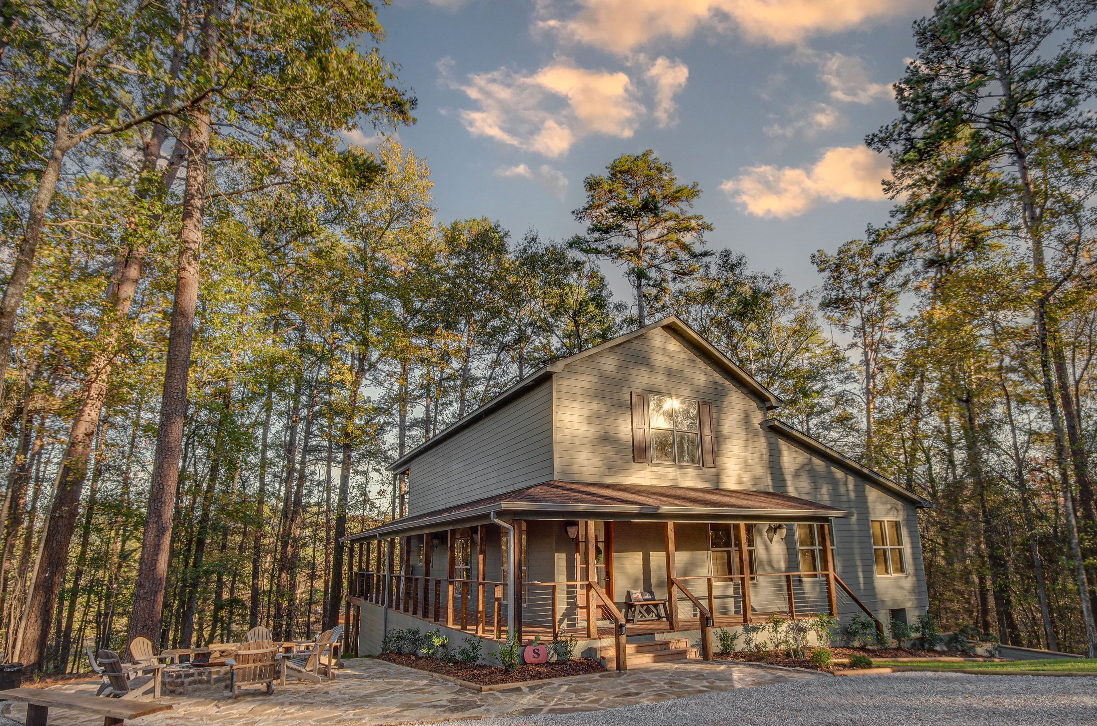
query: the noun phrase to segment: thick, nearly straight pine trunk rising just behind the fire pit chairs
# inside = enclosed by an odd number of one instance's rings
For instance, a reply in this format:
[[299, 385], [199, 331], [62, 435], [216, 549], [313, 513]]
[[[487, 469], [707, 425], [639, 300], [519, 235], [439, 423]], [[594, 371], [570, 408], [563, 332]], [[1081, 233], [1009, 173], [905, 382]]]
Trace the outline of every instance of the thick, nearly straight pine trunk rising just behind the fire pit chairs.
[[[216, 75], [219, 45], [218, 23], [224, 0], [208, 0], [202, 22], [202, 65]], [[168, 577], [171, 525], [176, 489], [179, 485], [179, 458], [186, 416], [186, 382], [191, 365], [194, 310], [199, 294], [199, 261], [202, 256], [202, 227], [206, 179], [210, 162], [210, 106], [203, 102], [188, 118], [190, 131], [186, 155], [186, 188], [183, 192], [181, 251], [176, 275], [174, 304], [168, 333], [168, 361], [157, 429], [156, 454], [149, 486], [140, 564], [134, 589], [134, 610], [129, 619], [129, 638], [138, 635], [154, 642], [160, 637], [163, 587]]]

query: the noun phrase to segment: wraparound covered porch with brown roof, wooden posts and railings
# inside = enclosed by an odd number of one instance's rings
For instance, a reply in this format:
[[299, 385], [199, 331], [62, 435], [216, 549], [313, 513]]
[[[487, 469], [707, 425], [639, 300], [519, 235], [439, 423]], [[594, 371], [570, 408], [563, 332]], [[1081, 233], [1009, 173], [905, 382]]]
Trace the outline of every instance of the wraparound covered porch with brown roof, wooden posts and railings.
[[[871, 616], [836, 574], [845, 515], [772, 492], [548, 483], [354, 535], [349, 603], [494, 640], [614, 638], [621, 654], [692, 631], [711, 658], [713, 627]], [[666, 606], [630, 612], [642, 597]]]

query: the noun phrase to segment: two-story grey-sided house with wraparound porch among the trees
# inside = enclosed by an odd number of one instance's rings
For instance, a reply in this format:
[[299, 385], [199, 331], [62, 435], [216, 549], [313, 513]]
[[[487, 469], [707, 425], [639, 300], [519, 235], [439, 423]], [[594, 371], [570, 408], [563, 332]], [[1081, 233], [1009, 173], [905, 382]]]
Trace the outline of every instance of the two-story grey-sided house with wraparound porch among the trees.
[[399, 517], [343, 540], [350, 649], [510, 628], [624, 668], [774, 614], [925, 613], [925, 502], [779, 406], [676, 317], [541, 368], [388, 467]]

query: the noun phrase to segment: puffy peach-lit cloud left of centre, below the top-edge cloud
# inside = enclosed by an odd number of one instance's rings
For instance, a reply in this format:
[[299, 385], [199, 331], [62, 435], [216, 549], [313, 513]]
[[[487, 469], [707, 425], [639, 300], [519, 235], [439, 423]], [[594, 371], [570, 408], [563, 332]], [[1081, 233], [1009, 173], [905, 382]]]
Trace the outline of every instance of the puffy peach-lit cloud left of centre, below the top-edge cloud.
[[567, 154], [589, 134], [629, 138], [645, 111], [625, 73], [578, 68], [566, 58], [532, 76], [506, 68], [468, 73], [467, 83], [453, 78], [452, 66], [450, 58], [438, 64], [440, 82], [478, 104], [477, 110], [459, 112], [473, 136], [546, 157]]

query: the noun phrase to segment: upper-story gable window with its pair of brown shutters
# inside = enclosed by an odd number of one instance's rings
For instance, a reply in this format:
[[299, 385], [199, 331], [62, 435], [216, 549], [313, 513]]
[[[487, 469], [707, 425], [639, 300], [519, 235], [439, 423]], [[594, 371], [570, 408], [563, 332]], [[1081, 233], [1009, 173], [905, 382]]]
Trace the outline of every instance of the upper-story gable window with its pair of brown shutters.
[[671, 394], [632, 393], [633, 461], [714, 467], [712, 404]]

